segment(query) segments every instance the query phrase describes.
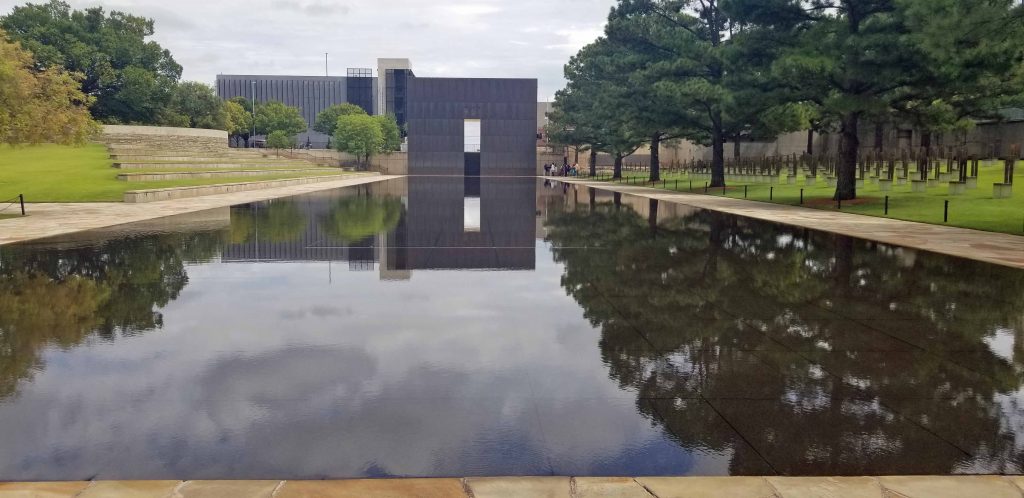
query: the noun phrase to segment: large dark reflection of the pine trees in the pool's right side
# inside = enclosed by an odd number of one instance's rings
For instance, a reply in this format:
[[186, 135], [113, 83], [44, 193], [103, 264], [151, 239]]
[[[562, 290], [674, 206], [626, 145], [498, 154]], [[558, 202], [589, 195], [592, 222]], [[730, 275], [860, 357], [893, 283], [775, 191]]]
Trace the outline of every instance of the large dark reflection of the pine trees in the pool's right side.
[[[907, 468], [930, 453], [908, 420], [964, 452], [932, 452], [934, 471], [1024, 465], [998, 404], [1024, 358], [986, 342], [1020, 339], [1024, 273], [712, 211], [651, 231], [654, 214], [585, 206], [549, 214], [548, 239], [611, 377], [641, 399], [707, 400], [783, 472]], [[738, 444], [699, 404], [638, 406], [681, 445]]]

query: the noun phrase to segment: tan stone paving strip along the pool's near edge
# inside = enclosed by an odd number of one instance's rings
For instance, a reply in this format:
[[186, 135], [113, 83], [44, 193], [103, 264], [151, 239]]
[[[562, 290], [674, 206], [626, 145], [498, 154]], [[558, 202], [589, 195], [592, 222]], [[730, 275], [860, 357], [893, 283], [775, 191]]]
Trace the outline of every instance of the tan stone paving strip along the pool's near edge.
[[1024, 478], [468, 478], [0, 483], [0, 498], [1024, 497]]

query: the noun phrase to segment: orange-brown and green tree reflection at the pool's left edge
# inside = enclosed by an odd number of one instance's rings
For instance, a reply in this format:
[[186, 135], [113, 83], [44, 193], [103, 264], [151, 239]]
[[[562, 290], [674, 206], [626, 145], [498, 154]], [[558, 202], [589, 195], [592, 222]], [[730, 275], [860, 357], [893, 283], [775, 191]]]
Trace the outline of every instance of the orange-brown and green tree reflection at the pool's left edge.
[[0, 253], [0, 398], [42, 367], [40, 350], [91, 335], [113, 339], [163, 325], [159, 308], [188, 282], [184, 263], [217, 254], [216, 232], [117, 239], [93, 247]]

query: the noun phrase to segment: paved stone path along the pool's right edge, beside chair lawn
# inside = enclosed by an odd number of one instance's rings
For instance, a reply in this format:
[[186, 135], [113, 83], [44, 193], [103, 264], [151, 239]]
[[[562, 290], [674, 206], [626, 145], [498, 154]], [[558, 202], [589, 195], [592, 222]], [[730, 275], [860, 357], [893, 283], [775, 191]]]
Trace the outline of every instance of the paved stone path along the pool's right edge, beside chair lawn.
[[606, 181], [558, 179], [606, 191], [1024, 268], [1024, 237], [1021, 236]]

